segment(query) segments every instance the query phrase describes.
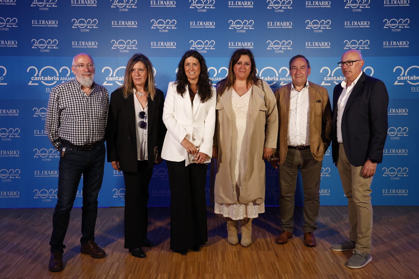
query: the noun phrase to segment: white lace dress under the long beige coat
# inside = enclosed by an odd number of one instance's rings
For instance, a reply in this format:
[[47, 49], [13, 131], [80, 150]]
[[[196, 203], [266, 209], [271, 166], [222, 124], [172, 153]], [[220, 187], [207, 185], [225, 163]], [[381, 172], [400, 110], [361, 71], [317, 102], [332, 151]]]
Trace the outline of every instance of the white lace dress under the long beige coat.
[[[235, 90], [231, 93], [232, 118], [231, 118], [231, 150], [230, 150], [230, 174], [234, 197], [238, 200], [241, 191], [241, 181], [246, 170], [246, 154], [248, 144], [247, 115], [249, 100], [252, 92], [251, 87], [244, 95], [239, 96]], [[265, 203], [261, 205], [249, 202], [248, 204], [225, 205], [215, 202], [214, 212], [222, 214], [233, 220], [243, 218], [256, 218], [259, 213], [265, 212]]]

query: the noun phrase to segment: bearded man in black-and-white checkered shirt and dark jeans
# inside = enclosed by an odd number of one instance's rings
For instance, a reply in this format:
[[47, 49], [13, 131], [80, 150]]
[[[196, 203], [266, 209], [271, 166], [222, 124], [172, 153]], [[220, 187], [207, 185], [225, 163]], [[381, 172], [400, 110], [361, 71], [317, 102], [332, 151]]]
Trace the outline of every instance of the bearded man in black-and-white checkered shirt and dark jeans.
[[83, 174], [83, 207], [80, 252], [93, 258], [106, 256], [95, 243], [98, 193], [105, 164], [105, 129], [109, 94], [93, 81], [95, 64], [88, 54], [77, 54], [72, 62], [75, 78], [58, 84], [49, 94], [45, 131], [59, 151], [57, 205], [52, 217], [49, 271], [62, 271], [62, 254], [70, 211]]

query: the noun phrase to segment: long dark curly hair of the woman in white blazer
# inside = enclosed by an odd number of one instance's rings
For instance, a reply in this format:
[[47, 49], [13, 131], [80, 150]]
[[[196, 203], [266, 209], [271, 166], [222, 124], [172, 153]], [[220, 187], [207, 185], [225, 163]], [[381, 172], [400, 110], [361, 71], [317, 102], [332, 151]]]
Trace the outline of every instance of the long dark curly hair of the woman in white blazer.
[[176, 91], [178, 92], [178, 94], [184, 97], [186, 87], [189, 88], [191, 86], [190, 82], [188, 81], [188, 78], [186, 77], [185, 72], [185, 60], [188, 57], [194, 57], [199, 61], [199, 65], [201, 66], [201, 73], [199, 74], [199, 79], [197, 82], [197, 94], [201, 99], [201, 102], [207, 102], [212, 97], [212, 81], [211, 79], [209, 79], [208, 76], [208, 68], [207, 64], [205, 63], [205, 59], [198, 51], [189, 50], [186, 51], [185, 54], [182, 56], [182, 59], [178, 65], [178, 73], [176, 74]]

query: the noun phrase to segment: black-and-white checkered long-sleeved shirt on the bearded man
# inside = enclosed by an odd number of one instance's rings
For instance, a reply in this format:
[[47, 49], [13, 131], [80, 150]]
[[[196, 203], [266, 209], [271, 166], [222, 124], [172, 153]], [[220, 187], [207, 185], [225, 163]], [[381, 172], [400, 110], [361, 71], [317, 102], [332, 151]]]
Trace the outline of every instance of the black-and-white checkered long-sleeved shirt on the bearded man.
[[49, 94], [45, 121], [49, 141], [57, 150], [61, 138], [75, 145], [100, 141], [105, 136], [108, 108], [108, 90], [97, 83], [89, 95], [75, 78], [58, 84]]

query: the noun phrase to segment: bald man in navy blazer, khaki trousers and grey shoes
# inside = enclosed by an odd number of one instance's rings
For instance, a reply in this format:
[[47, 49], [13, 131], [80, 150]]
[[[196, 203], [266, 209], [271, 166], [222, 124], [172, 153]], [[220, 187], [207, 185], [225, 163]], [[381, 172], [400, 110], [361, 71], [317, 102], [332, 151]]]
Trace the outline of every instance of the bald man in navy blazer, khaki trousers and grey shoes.
[[346, 51], [338, 62], [345, 77], [333, 91], [332, 157], [348, 198], [349, 238], [334, 251], [354, 250], [347, 266], [359, 269], [371, 260], [371, 182], [383, 160], [387, 137], [388, 93], [384, 83], [362, 71], [357, 50]]

